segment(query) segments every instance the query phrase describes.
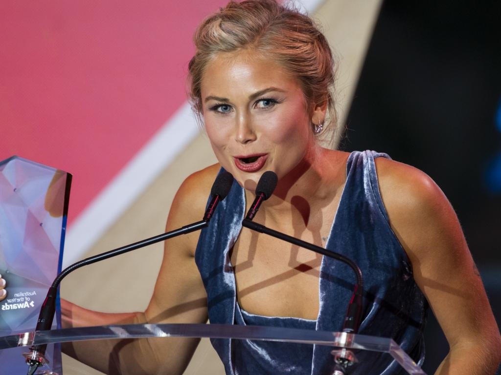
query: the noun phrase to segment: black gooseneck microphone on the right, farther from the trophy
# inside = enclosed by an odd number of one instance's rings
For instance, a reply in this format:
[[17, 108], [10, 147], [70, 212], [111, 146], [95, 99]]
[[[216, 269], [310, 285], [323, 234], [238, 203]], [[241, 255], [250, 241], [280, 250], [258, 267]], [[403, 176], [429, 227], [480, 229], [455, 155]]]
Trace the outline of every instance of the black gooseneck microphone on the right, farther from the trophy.
[[[348, 309], [346, 312], [345, 320], [343, 322], [343, 332], [358, 333], [358, 328], [360, 327], [360, 320], [362, 317], [362, 296], [364, 293], [363, 292], [364, 281], [362, 277], [362, 271], [358, 267], [358, 265], [347, 256], [344, 256], [334, 251], [327, 250], [313, 243], [303, 241], [302, 239], [287, 235], [274, 229], [270, 229], [264, 225], [252, 221], [261, 203], [264, 200], [268, 199], [273, 194], [273, 190], [277, 186], [277, 179], [278, 179], [277, 174], [275, 174], [272, 171], [267, 171], [263, 173], [261, 179], [258, 182], [258, 187], [256, 188], [256, 199], [254, 199], [252, 206], [250, 206], [250, 209], [247, 212], [247, 215], [242, 220], [242, 226], [245, 226], [246, 228], [252, 230], [256, 230], [261, 233], [271, 235], [273, 237], [282, 239], [289, 243], [307, 248], [319, 254], [329, 256], [331, 258], [340, 260], [343, 263], [348, 264], [351, 267], [351, 269], [355, 272], [355, 277], [357, 279], [357, 282], [355, 283], [355, 286], [353, 288], [353, 295], [348, 303]], [[337, 373], [335, 372], [336, 375], [338, 373], [344, 374], [346, 367], [351, 366], [356, 362], [356, 358], [353, 352], [351, 352], [350, 350], [347, 349], [333, 350], [332, 353], [334, 355], [334, 359], [336, 362], [336, 368], [337, 368], [336, 371], [339, 371]]]

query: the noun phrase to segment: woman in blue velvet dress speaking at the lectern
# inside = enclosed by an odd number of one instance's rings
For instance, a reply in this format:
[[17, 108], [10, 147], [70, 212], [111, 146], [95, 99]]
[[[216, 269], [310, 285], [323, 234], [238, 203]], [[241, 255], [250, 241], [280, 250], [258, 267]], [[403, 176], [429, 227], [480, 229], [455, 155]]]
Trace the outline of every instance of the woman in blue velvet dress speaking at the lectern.
[[[103, 314], [65, 302], [66, 324], [203, 323], [208, 316], [213, 323], [340, 330], [351, 271], [241, 228], [257, 181], [273, 170], [277, 188], [255, 221], [358, 263], [366, 283], [360, 333], [392, 337], [422, 361], [429, 303], [450, 345], [436, 373], [492, 374], [501, 339], [456, 215], [441, 190], [423, 172], [384, 154], [348, 154], [319, 145], [328, 123], [335, 122], [333, 61], [311, 19], [273, 0], [230, 2], [199, 26], [195, 44], [189, 64], [191, 101], [219, 163], [183, 182], [167, 230], [202, 217], [207, 191], [221, 167], [237, 183], [207, 229], [166, 242], [146, 311]], [[103, 341], [66, 351], [109, 373], [182, 373], [197, 343]], [[237, 340], [213, 344], [227, 373], [333, 370], [328, 347]], [[403, 373], [398, 364], [374, 353], [360, 354], [359, 360], [353, 373]]]

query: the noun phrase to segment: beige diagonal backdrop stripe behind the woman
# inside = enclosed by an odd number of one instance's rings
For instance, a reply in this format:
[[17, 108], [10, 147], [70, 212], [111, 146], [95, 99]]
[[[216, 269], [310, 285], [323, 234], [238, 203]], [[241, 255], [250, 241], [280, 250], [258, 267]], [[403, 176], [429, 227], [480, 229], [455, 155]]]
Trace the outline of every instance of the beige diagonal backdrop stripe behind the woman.
[[[337, 56], [337, 100], [340, 131], [344, 128], [358, 76], [365, 58], [381, 0], [329, 0], [312, 14], [323, 26]], [[192, 172], [216, 162], [201, 133], [158, 176], [124, 215], [85, 254], [94, 255], [164, 231], [170, 204], [181, 182]], [[209, 192], [207, 192], [208, 195]], [[75, 271], [63, 281], [63, 298], [84, 307], [124, 312], [144, 310], [149, 302], [162, 260], [157, 243], [114, 259]], [[99, 371], [65, 356], [64, 365], [72, 374], [100, 374]], [[185, 371], [187, 375], [223, 373], [223, 366], [208, 339], [203, 339]]]

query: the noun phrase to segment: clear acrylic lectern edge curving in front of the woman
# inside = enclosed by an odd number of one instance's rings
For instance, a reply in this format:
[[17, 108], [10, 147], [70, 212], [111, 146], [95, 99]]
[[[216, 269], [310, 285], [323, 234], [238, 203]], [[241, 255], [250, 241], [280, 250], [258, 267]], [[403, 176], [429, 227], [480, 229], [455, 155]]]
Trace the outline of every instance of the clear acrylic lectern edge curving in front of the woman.
[[[425, 373], [391, 338], [366, 336], [345, 332], [315, 331], [307, 329], [279, 328], [253, 325], [229, 324], [130, 324], [106, 325], [82, 328], [53, 329], [48, 331], [26, 332], [0, 337], [0, 350], [9, 350], [13, 347], [25, 346], [26, 351], [34, 344], [75, 342], [82, 340], [125, 339], [157, 337], [159, 340], [173, 339], [173, 337], [209, 337], [231, 338], [248, 340], [269, 340], [296, 342], [303, 344], [317, 344], [332, 346], [336, 349], [352, 349], [355, 352], [363, 350], [387, 353], [393, 357], [409, 374]], [[333, 354], [333, 360], [334, 360]], [[23, 362], [24, 358], [19, 357]], [[39, 368], [37, 373], [49, 372], [46, 366]], [[45, 371], [45, 372], [44, 372]], [[63, 368], [64, 371], [64, 368]], [[348, 373], [350, 373], [348, 371]], [[353, 373], [357, 373], [354, 367]], [[326, 374], [332, 375], [332, 374]], [[366, 375], [366, 374], [364, 374]]]

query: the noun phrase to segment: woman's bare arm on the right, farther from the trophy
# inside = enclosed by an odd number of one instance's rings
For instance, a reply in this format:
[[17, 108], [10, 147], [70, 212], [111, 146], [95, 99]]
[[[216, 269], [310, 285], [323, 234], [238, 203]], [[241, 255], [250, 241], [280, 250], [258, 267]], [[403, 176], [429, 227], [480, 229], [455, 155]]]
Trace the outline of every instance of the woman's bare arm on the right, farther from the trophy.
[[494, 374], [501, 337], [454, 210], [425, 173], [376, 160], [391, 226], [449, 343], [435, 375]]

